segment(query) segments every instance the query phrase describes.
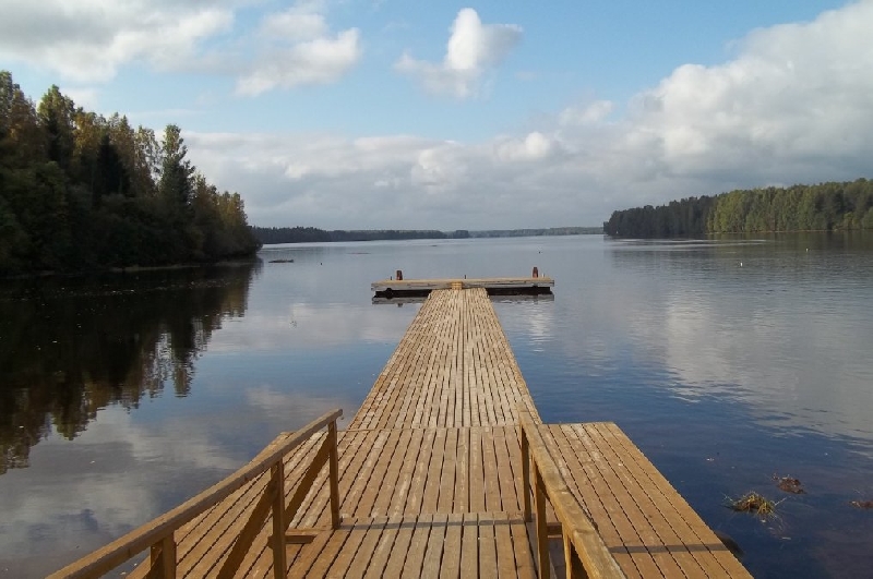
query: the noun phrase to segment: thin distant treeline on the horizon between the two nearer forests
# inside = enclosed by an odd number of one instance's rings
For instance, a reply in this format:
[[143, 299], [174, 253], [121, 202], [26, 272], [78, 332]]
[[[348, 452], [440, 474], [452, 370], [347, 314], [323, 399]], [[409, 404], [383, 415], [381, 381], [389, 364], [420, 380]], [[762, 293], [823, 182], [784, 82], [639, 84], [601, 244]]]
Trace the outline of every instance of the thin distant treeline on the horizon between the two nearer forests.
[[326, 231], [315, 227], [252, 227], [252, 232], [263, 244], [310, 243], [330, 241], [376, 241], [399, 239], [468, 239], [517, 238], [535, 236], [577, 236], [600, 233], [599, 227], [555, 227], [551, 229], [493, 229], [487, 231], [435, 231], [432, 229], [367, 229]]

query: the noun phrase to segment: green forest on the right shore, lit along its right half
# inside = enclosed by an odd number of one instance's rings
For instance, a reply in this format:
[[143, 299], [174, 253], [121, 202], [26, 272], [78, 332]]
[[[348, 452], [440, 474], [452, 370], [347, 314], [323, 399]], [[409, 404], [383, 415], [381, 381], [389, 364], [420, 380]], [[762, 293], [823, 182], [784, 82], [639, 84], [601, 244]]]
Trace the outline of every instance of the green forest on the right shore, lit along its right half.
[[873, 181], [738, 190], [613, 212], [603, 232], [633, 238], [873, 229]]

